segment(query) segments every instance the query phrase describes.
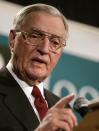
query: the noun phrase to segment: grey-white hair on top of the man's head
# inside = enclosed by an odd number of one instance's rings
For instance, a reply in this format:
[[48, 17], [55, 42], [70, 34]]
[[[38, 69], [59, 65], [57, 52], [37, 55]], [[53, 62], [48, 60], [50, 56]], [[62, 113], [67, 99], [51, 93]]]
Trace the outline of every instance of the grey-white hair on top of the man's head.
[[20, 30], [25, 17], [29, 13], [35, 12], [35, 11], [43, 11], [43, 12], [46, 12], [46, 13], [48, 13], [50, 15], [60, 17], [62, 19], [62, 21], [63, 21], [64, 28], [65, 28], [66, 32], [68, 32], [68, 24], [67, 24], [66, 17], [57, 8], [55, 8], [55, 7], [51, 6], [51, 5], [41, 4], [41, 3], [29, 5], [29, 6], [26, 6], [26, 7], [22, 8], [16, 14], [16, 16], [14, 18], [13, 28], [15, 30]]

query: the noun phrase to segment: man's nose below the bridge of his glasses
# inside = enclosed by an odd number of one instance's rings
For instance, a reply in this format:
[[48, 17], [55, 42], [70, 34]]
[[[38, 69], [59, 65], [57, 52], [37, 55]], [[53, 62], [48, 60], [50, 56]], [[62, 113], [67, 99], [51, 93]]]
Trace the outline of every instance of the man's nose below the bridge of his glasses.
[[43, 40], [41, 40], [40, 44], [38, 45], [38, 50], [43, 54], [49, 53], [49, 46], [50, 41], [48, 37], [45, 37]]

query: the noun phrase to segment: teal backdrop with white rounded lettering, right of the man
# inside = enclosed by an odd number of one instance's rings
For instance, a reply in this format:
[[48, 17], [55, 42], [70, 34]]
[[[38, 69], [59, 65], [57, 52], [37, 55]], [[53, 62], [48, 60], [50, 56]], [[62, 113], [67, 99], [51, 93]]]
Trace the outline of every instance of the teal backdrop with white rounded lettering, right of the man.
[[63, 53], [47, 83], [52, 92], [64, 97], [74, 92], [89, 100], [99, 98], [99, 63]]

